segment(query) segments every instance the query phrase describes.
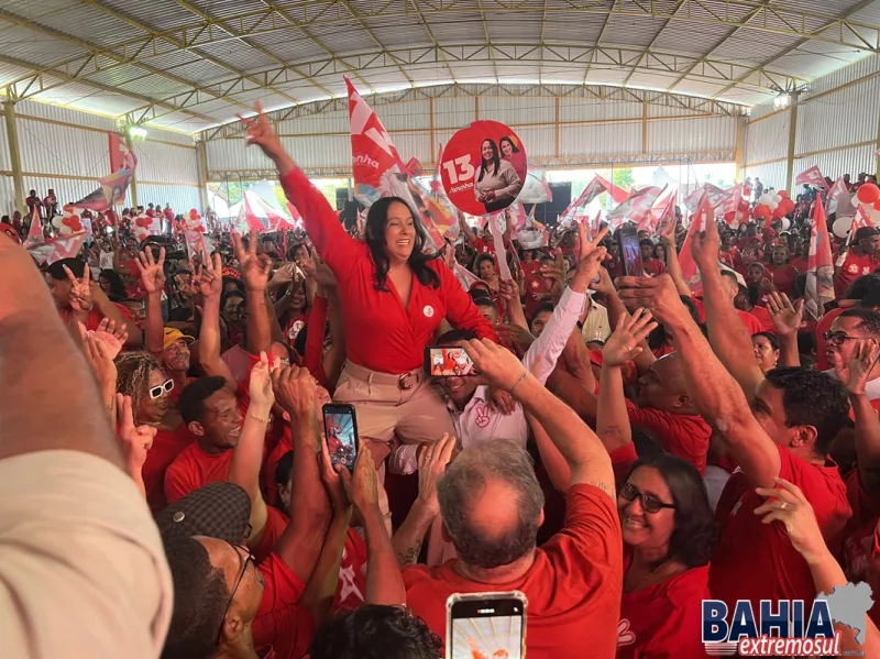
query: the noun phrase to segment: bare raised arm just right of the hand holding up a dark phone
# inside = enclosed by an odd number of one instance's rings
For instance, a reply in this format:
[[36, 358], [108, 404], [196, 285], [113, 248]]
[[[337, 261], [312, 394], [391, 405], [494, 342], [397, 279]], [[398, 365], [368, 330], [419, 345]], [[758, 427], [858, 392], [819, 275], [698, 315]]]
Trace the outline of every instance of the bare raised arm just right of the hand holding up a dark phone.
[[[751, 403], [758, 386], [763, 382], [763, 373], [754, 359], [743, 359], [750, 354], [751, 336], [739, 319], [736, 308], [724, 295], [722, 271], [718, 267], [718, 227], [706, 222], [706, 230], [691, 237], [691, 253], [700, 268], [703, 282], [703, 304], [706, 310], [706, 325], [712, 350], [718, 355], [725, 369], [733, 374]], [[698, 389], [692, 389], [696, 393]]]

